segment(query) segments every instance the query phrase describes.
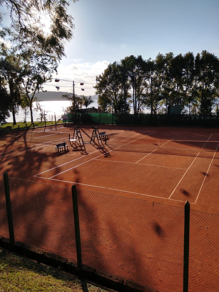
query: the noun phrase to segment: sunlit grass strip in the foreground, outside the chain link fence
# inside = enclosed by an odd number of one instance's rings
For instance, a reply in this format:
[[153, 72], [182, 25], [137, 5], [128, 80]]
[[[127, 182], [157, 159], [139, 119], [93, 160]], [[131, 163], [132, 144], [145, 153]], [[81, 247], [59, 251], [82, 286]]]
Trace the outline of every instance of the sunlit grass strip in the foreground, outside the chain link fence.
[[39, 265], [0, 249], [1, 292], [104, 292], [58, 269]]

